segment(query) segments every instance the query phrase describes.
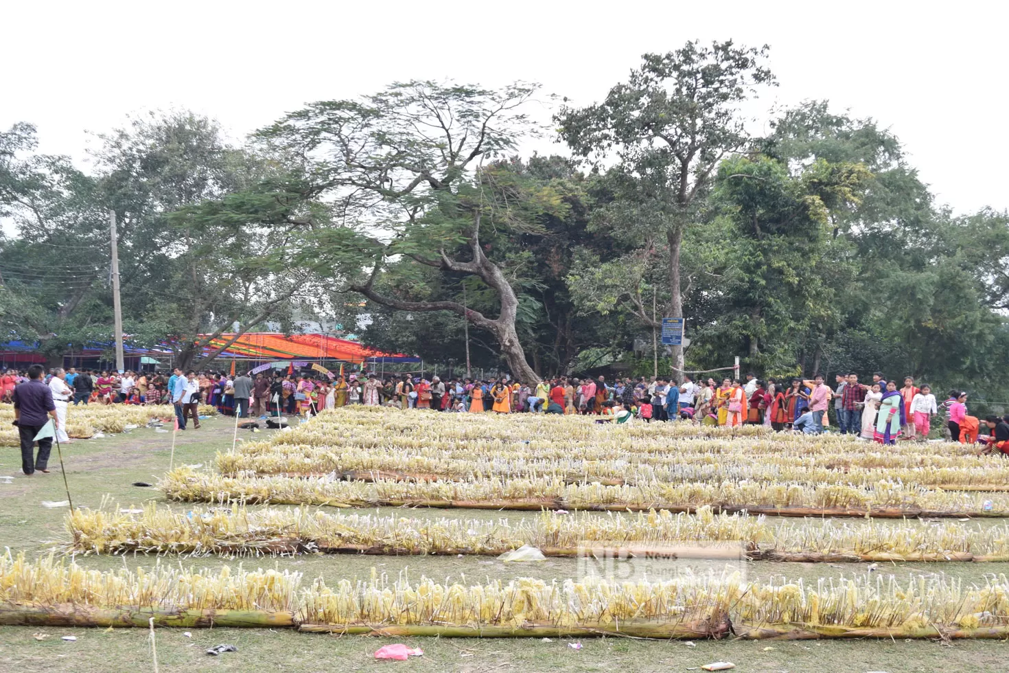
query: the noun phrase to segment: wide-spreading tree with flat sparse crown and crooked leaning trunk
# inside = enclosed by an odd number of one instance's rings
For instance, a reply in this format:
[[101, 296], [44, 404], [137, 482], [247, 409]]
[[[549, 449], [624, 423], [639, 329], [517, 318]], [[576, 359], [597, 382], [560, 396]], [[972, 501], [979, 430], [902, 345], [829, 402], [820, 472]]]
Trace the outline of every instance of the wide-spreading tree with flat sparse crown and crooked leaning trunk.
[[[485, 241], [494, 231], [536, 231], [537, 212], [560, 204], [513, 173], [480, 164], [535, 130], [524, 104], [536, 90], [396, 84], [359, 100], [314, 103], [259, 134], [301, 156], [318, 197], [336, 208], [337, 226], [321, 228], [315, 252], [351, 277], [347, 290], [389, 309], [461, 316], [489, 332], [512, 372], [526, 380], [539, 376], [517, 328], [520, 293]], [[353, 243], [347, 229], [357, 234]], [[383, 269], [411, 265], [475, 276], [493, 293], [497, 316], [455, 299], [379, 292]], [[354, 278], [355, 267], [367, 270]]]

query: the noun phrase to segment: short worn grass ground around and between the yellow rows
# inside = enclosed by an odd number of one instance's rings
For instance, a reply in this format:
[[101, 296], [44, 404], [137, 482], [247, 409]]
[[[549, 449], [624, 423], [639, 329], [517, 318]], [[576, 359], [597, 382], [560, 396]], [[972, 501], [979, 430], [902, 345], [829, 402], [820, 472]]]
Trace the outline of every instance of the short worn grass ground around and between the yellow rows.
[[[180, 433], [176, 463], [214, 466], [215, 454], [231, 447], [231, 421], [210, 419], [200, 431]], [[240, 431], [247, 440], [253, 436]], [[269, 433], [254, 436], [268, 439]], [[109, 495], [123, 508], [141, 506], [149, 499], [163, 500], [154, 488], [130, 485], [142, 480], [156, 482], [169, 465], [172, 435], [139, 429], [99, 440], [79, 441], [66, 447], [68, 478], [75, 504], [97, 508]], [[42, 500], [66, 499], [59, 465], [53, 456], [53, 472], [32, 477], [19, 476], [15, 448], [0, 453], [0, 475], [14, 475], [11, 484], [0, 484], [0, 546], [24, 550], [31, 555], [44, 553], [66, 540], [66, 509], [45, 509]], [[185, 503], [173, 503], [185, 509]], [[387, 515], [388, 510], [379, 511]], [[429, 511], [412, 509], [411, 517], [453, 516], [465, 519], [518, 521], [535, 513], [493, 511]], [[426, 575], [438, 580], [480, 581], [483, 578], [511, 578], [536, 575], [545, 579], [573, 574], [575, 561], [549, 559], [533, 566], [507, 566], [484, 557], [391, 557], [326, 556], [215, 557], [79, 556], [89, 568], [111, 569], [125, 566], [149, 568], [161, 563], [187, 567], [216, 568], [222, 564], [246, 568], [276, 567], [303, 572], [307, 579], [323, 577], [329, 583], [343, 577], [365, 578], [372, 567], [391, 576], [406, 571], [412, 577]], [[980, 580], [985, 574], [1009, 571], [1007, 564], [880, 564], [879, 572], [906, 576], [909, 573], [946, 573], [965, 580]], [[824, 575], [867, 573], [865, 565], [747, 564], [750, 579], [787, 575], [811, 580]], [[35, 634], [48, 638], [38, 641]], [[73, 635], [76, 642], [61, 637]], [[301, 670], [357, 671], [388, 665], [424, 671], [669, 671], [695, 669], [713, 661], [731, 661], [740, 671], [1003, 671], [1005, 645], [997, 641], [957, 641], [940, 644], [929, 641], [822, 641], [822, 642], [656, 642], [620, 638], [589, 639], [574, 650], [567, 639], [414, 639], [406, 642], [425, 651], [423, 658], [403, 663], [375, 662], [371, 654], [383, 644], [381, 638], [333, 637], [270, 630], [193, 630], [192, 638], [181, 631], [160, 629], [156, 633], [160, 671], [190, 671], [194, 667], [221, 671]], [[204, 651], [220, 643], [238, 647], [238, 652], [209, 657]], [[105, 671], [153, 670], [148, 635], [141, 630], [0, 628], [0, 670], [3, 671]]]

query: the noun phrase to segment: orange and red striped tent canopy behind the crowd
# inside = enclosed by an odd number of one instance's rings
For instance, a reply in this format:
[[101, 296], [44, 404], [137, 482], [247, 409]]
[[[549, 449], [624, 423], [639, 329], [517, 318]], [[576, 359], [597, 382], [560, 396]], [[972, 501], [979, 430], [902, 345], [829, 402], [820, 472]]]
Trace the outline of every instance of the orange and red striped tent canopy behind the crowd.
[[[222, 334], [203, 344], [204, 352], [226, 344], [234, 334]], [[362, 346], [356, 341], [337, 339], [326, 334], [292, 334], [249, 332], [238, 337], [218, 355], [220, 358], [256, 360], [343, 360], [362, 362], [420, 362], [420, 358], [403, 353], [383, 353]]]

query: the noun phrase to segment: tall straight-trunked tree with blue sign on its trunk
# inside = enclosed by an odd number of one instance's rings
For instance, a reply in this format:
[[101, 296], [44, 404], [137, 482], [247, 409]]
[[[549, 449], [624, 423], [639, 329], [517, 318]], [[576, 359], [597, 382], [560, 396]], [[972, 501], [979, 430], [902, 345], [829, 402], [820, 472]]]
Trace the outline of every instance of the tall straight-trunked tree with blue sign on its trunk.
[[[649, 219], [666, 239], [668, 316], [683, 316], [684, 231], [698, 220], [720, 160], [747, 148], [739, 107], [759, 85], [774, 82], [762, 65], [766, 53], [767, 46], [746, 48], [731, 40], [646, 53], [641, 68], [601, 103], [565, 107], [557, 117], [561, 136], [575, 153], [598, 164], [615, 157], [619, 170], [639, 181], [637, 191], [647, 195]], [[680, 376], [681, 346], [673, 347], [673, 362], [674, 375]]]

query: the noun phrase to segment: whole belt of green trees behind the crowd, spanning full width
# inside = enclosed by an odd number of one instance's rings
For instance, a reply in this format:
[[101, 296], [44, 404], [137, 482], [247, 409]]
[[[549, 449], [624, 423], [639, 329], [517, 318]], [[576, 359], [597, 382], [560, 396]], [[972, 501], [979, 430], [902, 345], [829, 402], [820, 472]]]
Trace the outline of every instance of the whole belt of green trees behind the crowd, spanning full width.
[[[87, 170], [15, 124], [5, 338], [51, 358], [111, 339], [111, 211], [126, 331], [187, 365], [208, 336], [320, 315], [529, 381], [740, 356], [1005, 395], [1009, 214], [935, 203], [893, 132], [825, 101], [751, 123], [767, 55], [645, 54], [555, 129], [534, 122], [535, 84], [432, 81], [309, 103], [242, 142], [186, 111], [131, 118]], [[530, 137], [571, 155], [523, 155]], [[688, 347], [653, 347], [663, 316], [686, 319]]]

